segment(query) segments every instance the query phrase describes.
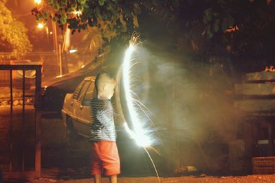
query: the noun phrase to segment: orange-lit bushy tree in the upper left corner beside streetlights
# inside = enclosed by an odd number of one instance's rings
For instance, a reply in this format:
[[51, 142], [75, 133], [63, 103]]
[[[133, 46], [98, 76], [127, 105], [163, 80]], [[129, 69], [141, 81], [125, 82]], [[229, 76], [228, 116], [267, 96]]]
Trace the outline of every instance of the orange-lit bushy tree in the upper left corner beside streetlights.
[[20, 56], [32, 51], [32, 45], [23, 23], [12, 17], [12, 13], [0, 1], [0, 50]]

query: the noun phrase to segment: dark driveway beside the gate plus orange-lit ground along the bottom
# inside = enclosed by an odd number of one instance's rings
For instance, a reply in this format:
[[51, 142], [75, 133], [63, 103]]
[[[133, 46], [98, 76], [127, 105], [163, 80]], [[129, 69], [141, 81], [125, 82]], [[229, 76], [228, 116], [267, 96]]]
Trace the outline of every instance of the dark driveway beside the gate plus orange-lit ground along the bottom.
[[[5, 180], [5, 182], [94, 182], [89, 174], [89, 142], [78, 138], [76, 143], [67, 141], [65, 126], [56, 115], [43, 115], [41, 119], [42, 173], [41, 178], [27, 180]], [[157, 183], [157, 182], [275, 182], [275, 175], [213, 176], [200, 172], [194, 175], [155, 175], [124, 173], [118, 177], [120, 183]], [[102, 183], [108, 179], [103, 178]]]

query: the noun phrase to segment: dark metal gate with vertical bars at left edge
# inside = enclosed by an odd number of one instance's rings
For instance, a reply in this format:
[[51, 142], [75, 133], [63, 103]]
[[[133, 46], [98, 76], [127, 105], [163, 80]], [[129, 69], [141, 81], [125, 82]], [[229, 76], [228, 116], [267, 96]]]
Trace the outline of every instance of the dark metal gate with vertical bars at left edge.
[[[40, 176], [41, 65], [2, 64], [0, 71], [10, 72], [10, 88], [8, 88], [10, 96], [8, 96], [6, 105], [1, 103], [0, 106], [0, 130], [2, 131], [0, 132], [0, 135], [2, 134], [0, 136], [0, 168], [3, 171], [3, 178]], [[22, 73], [20, 78], [22, 86], [19, 89], [14, 88], [14, 71]], [[25, 73], [28, 71], [35, 71], [35, 88], [32, 89], [32, 93], [26, 93]], [[16, 89], [17, 96], [14, 95]], [[17, 100], [18, 97], [20, 100]]]

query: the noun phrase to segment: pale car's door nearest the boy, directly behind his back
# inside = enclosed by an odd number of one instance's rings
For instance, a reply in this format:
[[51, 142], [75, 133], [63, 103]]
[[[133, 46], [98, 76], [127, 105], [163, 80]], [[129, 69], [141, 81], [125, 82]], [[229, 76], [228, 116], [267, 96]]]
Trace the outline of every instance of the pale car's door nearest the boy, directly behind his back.
[[90, 101], [94, 97], [94, 80], [90, 80], [89, 87], [82, 100], [82, 108], [78, 113], [79, 132], [83, 136], [89, 136], [89, 124], [92, 123]]

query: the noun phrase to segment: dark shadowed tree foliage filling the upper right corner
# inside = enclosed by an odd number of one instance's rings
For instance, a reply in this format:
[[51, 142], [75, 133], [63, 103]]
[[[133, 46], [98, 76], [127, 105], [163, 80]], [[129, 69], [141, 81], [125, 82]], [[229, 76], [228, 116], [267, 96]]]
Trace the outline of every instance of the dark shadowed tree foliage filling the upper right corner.
[[153, 7], [150, 14], [161, 17], [171, 42], [181, 43], [178, 48], [197, 60], [225, 56], [241, 71], [274, 60], [274, 1], [165, 0]]

